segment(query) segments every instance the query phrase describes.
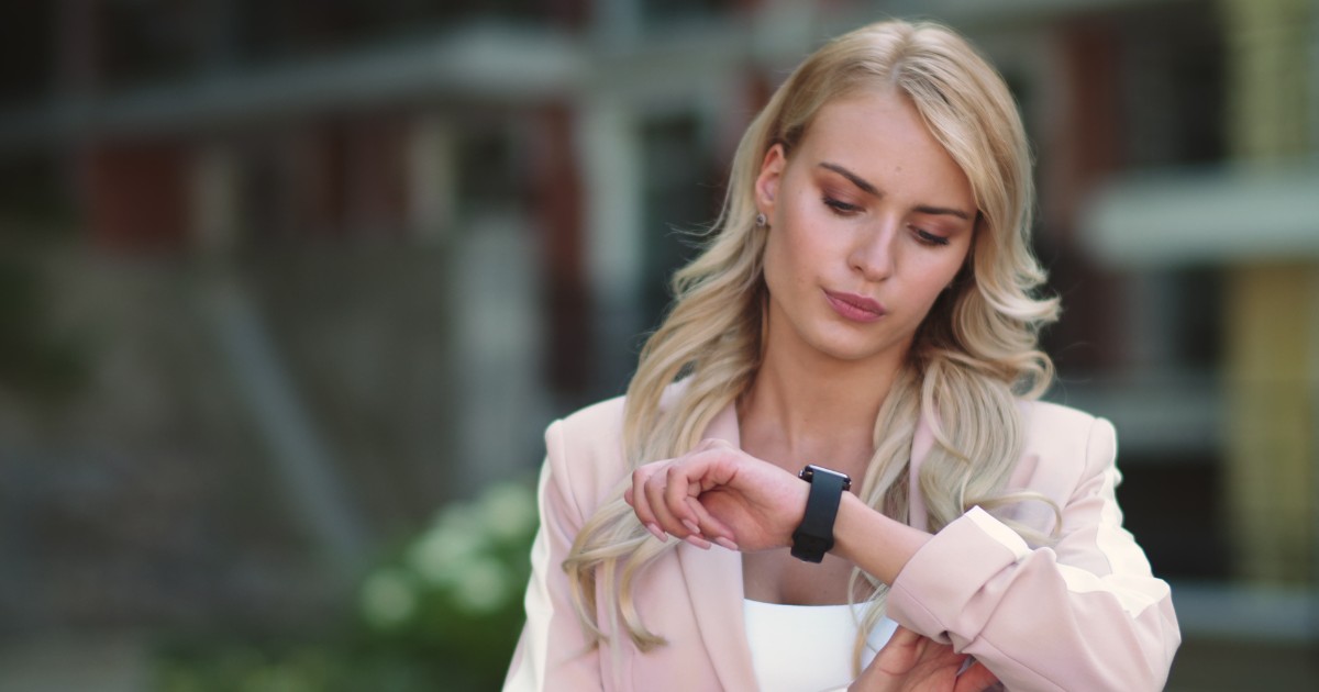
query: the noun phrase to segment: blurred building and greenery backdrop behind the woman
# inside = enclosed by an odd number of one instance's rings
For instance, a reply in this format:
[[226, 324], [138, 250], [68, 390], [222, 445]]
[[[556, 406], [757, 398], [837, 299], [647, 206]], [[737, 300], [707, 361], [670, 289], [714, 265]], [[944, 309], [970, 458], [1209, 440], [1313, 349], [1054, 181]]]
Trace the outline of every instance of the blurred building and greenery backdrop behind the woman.
[[543, 427], [623, 391], [787, 70], [889, 16], [1020, 99], [1049, 398], [1117, 426], [1170, 689], [1319, 688], [1319, 1], [0, 12], [0, 689], [497, 685]]

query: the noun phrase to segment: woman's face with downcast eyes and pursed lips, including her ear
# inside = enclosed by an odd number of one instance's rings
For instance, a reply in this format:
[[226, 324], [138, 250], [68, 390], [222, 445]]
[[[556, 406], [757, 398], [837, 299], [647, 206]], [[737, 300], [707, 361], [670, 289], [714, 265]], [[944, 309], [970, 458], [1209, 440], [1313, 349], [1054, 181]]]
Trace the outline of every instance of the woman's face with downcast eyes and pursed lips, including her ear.
[[966, 174], [897, 94], [823, 107], [756, 179], [769, 351], [897, 362], [971, 246]]

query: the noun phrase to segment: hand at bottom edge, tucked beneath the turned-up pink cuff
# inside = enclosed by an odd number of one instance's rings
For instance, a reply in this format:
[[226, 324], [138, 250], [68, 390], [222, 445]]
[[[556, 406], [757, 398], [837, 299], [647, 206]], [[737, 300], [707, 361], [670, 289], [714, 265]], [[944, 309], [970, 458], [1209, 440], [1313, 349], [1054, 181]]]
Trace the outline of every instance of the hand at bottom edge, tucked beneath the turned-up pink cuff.
[[[900, 626], [849, 692], [985, 692], [1001, 689], [979, 660], [962, 671], [966, 654]], [[962, 671], [959, 674], [959, 671]]]

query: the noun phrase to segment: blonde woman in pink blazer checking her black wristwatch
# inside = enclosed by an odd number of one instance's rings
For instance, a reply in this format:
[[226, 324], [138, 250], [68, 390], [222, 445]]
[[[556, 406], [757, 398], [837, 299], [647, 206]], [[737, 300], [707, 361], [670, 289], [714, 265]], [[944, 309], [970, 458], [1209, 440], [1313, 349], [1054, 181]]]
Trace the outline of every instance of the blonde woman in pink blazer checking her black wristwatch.
[[1177, 618], [1113, 428], [1035, 401], [1031, 204], [1016, 105], [951, 30], [807, 58], [627, 397], [546, 432], [506, 688], [1161, 688]]

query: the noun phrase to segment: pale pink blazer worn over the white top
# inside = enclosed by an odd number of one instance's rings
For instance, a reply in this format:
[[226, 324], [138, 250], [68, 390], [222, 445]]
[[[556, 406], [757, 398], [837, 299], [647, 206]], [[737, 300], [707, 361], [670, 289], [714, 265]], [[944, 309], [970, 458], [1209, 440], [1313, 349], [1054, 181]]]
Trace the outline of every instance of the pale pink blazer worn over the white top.
[[[1038, 490], [1062, 507], [1060, 540], [1031, 550], [975, 507], [913, 556], [893, 584], [886, 614], [975, 655], [1008, 689], [1161, 689], [1181, 634], [1167, 584], [1150, 573], [1122, 529], [1113, 496], [1121, 480], [1113, 426], [1053, 403], [1021, 406], [1026, 443], [1012, 486]], [[546, 431], [526, 626], [504, 688], [756, 689], [741, 556], [719, 547], [679, 544], [638, 577], [642, 622], [667, 645], [642, 654], [624, 634], [617, 664], [607, 645], [587, 650], [562, 563], [583, 522], [627, 475], [621, 431], [621, 398]], [[704, 436], [739, 443], [732, 406]], [[917, 468], [931, 446], [922, 423], [911, 449]], [[923, 529], [915, 469], [910, 477], [911, 523]], [[1024, 502], [1016, 511], [1014, 519], [1053, 529], [1053, 510], [1043, 504]]]

